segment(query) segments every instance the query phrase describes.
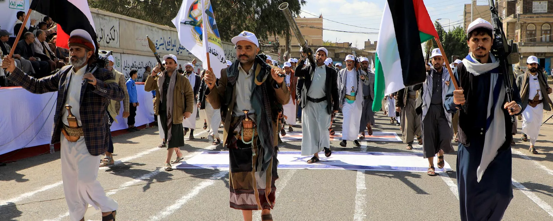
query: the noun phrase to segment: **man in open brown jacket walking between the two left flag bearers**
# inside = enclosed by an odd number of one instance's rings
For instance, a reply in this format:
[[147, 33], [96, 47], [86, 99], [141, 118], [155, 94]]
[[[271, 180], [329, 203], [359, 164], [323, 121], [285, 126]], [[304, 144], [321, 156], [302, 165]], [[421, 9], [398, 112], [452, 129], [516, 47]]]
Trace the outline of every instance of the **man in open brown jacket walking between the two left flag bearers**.
[[[173, 54], [163, 56], [165, 70], [161, 71], [160, 65], [156, 65], [152, 74], [146, 79], [145, 91], [155, 90], [154, 113], [159, 116], [159, 121], [165, 132], [165, 171], [172, 171], [171, 163], [182, 160], [179, 147], [184, 146], [184, 120], [192, 116], [194, 109], [194, 89], [189, 80], [178, 73], [178, 60]], [[159, 75], [158, 75], [159, 74]], [[176, 160], [171, 161], [173, 151], [176, 152]]]

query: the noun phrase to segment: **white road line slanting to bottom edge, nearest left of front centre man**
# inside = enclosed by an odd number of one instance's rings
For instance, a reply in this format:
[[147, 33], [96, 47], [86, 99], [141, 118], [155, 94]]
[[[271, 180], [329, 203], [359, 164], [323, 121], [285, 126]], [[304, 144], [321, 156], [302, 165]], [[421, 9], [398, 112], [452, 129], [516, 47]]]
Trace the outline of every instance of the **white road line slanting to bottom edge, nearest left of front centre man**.
[[159, 214], [153, 215], [152, 217], [149, 218], [149, 220], [152, 220], [152, 221], [160, 220], [160, 219], [163, 219], [163, 218], [167, 217], [168, 215], [173, 214], [174, 212], [176, 212], [176, 210], [181, 208], [182, 205], [186, 204], [191, 199], [194, 199], [194, 197], [196, 197], [196, 195], [199, 194], [202, 191], [202, 189], [205, 189], [206, 187], [209, 187], [209, 186], [215, 184], [215, 181], [217, 181], [218, 179], [221, 179], [222, 177], [226, 176], [227, 173], [228, 173], [228, 171], [221, 171], [221, 172], [213, 174], [213, 176], [211, 176], [210, 179], [198, 184], [198, 186], [196, 186], [194, 189], [192, 189], [192, 191], [190, 191], [190, 193], [186, 194], [185, 196], [182, 196], [178, 201], [176, 201], [175, 204], [170, 205], [169, 207], [166, 207]]

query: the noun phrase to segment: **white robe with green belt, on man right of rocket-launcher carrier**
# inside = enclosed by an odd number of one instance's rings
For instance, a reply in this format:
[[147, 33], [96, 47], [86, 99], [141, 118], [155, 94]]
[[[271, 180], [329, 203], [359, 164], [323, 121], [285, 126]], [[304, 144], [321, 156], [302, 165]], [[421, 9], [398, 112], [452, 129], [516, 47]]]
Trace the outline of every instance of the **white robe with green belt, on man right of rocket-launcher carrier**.
[[[342, 107], [343, 124], [342, 124], [342, 140], [354, 141], [357, 140], [359, 133], [359, 124], [361, 124], [361, 114], [363, 112], [363, 93], [358, 89], [362, 89], [362, 81], [357, 82], [357, 71], [355, 69], [346, 70], [346, 76], [343, 76], [342, 84], [346, 84], [346, 94], [351, 95], [351, 90], [357, 91], [355, 101], [349, 104], [344, 99]], [[356, 85], [357, 83], [357, 85]], [[340, 85], [339, 88], [342, 88]]]

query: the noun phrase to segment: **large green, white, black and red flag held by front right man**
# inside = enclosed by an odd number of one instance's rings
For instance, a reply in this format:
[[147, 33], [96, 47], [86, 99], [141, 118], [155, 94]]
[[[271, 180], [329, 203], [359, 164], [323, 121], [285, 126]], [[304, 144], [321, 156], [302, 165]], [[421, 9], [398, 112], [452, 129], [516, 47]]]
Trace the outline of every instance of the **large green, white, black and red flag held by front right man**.
[[425, 81], [421, 43], [438, 33], [422, 0], [387, 0], [378, 34], [373, 111], [385, 95]]

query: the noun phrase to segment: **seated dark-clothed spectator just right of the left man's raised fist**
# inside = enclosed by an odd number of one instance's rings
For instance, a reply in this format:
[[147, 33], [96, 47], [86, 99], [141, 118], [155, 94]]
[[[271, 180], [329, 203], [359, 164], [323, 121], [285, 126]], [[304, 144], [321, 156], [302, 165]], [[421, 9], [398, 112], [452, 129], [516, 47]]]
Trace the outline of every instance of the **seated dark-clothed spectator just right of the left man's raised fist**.
[[22, 58], [30, 60], [35, 70], [35, 78], [42, 78], [46, 76], [49, 72], [49, 64], [46, 61], [41, 61], [38, 58], [34, 57], [34, 34], [27, 32], [23, 35], [23, 39], [19, 40], [17, 46], [15, 47], [15, 53], [21, 55]]

